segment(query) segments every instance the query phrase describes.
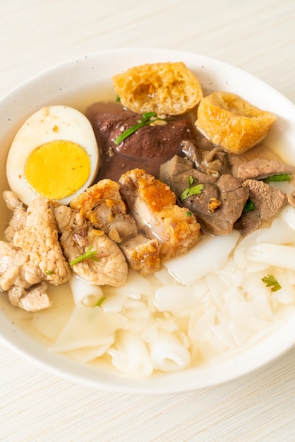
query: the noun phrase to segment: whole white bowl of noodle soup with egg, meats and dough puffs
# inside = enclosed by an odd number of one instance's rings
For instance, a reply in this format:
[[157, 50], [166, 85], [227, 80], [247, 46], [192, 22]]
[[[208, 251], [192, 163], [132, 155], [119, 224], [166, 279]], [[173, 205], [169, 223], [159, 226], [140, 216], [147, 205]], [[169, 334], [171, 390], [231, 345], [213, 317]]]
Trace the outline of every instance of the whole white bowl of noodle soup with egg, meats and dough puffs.
[[155, 395], [294, 347], [295, 106], [272, 87], [199, 54], [106, 50], [2, 97], [0, 142], [13, 352]]

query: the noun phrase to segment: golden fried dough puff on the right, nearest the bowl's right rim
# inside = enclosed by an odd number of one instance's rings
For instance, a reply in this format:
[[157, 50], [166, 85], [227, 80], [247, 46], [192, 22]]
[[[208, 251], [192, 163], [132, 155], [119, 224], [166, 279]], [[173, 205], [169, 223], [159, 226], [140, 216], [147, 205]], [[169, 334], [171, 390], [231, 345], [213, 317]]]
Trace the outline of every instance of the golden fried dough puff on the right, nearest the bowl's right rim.
[[241, 154], [263, 140], [275, 114], [258, 109], [238, 95], [212, 92], [198, 107], [195, 126], [212, 144], [228, 153]]

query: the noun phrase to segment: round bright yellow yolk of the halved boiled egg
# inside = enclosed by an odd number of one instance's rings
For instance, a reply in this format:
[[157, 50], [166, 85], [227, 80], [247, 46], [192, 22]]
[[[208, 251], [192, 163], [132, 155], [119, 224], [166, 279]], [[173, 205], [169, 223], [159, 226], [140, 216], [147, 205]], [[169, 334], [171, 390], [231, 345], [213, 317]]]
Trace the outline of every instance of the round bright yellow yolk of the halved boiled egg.
[[25, 179], [40, 196], [60, 200], [78, 191], [90, 175], [90, 157], [71, 141], [50, 141], [32, 150]]

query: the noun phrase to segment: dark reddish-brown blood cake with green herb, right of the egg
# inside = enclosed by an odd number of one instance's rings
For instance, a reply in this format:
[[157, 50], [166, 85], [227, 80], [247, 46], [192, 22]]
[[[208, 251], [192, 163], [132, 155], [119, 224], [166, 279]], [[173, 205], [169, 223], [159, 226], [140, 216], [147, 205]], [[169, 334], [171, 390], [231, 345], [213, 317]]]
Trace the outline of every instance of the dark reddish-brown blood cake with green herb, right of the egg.
[[190, 121], [174, 119], [161, 125], [140, 127], [116, 145], [114, 140], [138, 124], [143, 116], [124, 109], [120, 103], [92, 104], [86, 115], [102, 150], [99, 179], [117, 181], [121, 174], [138, 167], [138, 164], [158, 177], [161, 163], [181, 153], [182, 140], [191, 140], [195, 136], [195, 128]]

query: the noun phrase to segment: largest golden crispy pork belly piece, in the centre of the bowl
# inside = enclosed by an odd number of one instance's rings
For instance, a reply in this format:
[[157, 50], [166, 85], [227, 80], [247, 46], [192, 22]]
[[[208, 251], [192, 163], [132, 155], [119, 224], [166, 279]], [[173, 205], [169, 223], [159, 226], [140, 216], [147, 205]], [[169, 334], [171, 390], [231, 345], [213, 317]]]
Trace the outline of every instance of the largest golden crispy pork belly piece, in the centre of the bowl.
[[138, 229], [150, 239], [157, 238], [161, 258], [181, 256], [198, 242], [200, 225], [186, 208], [176, 205], [167, 184], [143, 169], [126, 172], [119, 182]]

